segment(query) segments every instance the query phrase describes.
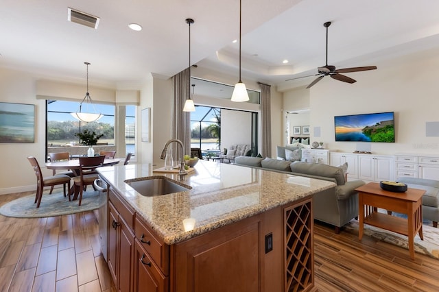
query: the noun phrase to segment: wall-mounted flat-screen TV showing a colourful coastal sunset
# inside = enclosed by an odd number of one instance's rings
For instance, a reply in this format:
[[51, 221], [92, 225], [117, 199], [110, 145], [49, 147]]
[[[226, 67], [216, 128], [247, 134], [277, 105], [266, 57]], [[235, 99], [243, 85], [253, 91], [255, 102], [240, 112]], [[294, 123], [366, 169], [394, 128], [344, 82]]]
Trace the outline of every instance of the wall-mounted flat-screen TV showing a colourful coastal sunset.
[[395, 141], [394, 112], [351, 114], [334, 117], [335, 141]]

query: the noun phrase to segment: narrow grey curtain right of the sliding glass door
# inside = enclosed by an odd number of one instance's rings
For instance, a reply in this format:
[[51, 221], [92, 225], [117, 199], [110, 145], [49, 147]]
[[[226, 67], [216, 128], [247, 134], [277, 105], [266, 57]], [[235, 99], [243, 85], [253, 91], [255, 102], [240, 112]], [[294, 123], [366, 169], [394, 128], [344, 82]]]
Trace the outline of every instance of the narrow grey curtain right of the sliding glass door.
[[258, 83], [261, 86], [262, 157], [272, 157], [271, 86]]

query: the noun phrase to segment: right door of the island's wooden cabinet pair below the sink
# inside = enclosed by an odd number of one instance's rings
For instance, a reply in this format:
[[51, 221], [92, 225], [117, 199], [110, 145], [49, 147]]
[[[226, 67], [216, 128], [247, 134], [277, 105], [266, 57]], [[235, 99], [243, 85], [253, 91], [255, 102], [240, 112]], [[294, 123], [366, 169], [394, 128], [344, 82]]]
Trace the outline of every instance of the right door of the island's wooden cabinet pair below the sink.
[[132, 291], [134, 234], [122, 219], [120, 220], [119, 232], [119, 291]]

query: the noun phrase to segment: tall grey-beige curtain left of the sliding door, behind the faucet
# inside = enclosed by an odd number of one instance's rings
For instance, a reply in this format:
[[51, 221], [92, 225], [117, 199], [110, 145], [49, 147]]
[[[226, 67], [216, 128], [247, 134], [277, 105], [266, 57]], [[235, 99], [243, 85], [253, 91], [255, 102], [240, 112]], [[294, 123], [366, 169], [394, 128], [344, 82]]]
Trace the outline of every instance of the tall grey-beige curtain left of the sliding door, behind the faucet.
[[174, 160], [180, 161], [180, 155], [191, 154], [191, 113], [183, 112], [185, 101], [191, 93], [190, 82], [190, 70], [189, 68], [181, 71], [180, 73], [172, 77], [174, 84], [174, 101], [172, 106], [172, 129], [171, 138], [178, 139], [183, 143], [183, 153], [180, 154], [180, 147], [173, 143]]

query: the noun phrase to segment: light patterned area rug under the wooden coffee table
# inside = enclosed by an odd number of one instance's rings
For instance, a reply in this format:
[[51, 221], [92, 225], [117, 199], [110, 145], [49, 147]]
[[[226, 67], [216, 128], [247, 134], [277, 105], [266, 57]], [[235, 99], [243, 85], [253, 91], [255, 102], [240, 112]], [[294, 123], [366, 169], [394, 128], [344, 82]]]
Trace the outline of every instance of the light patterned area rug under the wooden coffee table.
[[[358, 228], [359, 224], [355, 219], [349, 221], [345, 226], [346, 232], [350, 232], [357, 236]], [[405, 248], [406, 250], [409, 249], [408, 237], [395, 232], [365, 224], [364, 235]], [[439, 228], [423, 225], [423, 236], [424, 240], [421, 241], [419, 234], [416, 234], [414, 238], [414, 251], [419, 254], [425, 254], [426, 256], [439, 259]]]

